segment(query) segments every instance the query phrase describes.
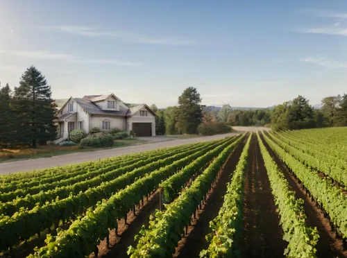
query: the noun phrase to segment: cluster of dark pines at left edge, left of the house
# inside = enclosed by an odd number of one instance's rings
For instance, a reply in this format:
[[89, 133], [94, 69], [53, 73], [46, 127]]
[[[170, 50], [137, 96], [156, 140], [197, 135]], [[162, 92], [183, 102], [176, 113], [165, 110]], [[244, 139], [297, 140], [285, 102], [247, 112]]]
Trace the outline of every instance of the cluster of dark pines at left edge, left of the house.
[[8, 83], [0, 84], [0, 147], [33, 147], [56, 139], [56, 105], [51, 86], [31, 66], [19, 80], [14, 91]]

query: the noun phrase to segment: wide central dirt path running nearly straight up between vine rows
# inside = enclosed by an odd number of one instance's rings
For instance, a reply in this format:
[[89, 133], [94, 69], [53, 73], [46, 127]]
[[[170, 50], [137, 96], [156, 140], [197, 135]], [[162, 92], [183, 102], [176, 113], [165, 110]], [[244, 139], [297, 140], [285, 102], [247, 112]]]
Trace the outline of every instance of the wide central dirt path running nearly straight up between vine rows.
[[250, 151], [244, 187], [242, 257], [283, 257], [286, 243], [256, 138]]

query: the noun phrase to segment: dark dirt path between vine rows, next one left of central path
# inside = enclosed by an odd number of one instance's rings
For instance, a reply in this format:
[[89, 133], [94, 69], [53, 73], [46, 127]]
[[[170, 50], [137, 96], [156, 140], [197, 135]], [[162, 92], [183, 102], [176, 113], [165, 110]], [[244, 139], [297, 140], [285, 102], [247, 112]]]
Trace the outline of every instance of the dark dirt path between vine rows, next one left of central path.
[[230, 175], [235, 170], [243, 148], [244, 143], [239, 144], [229, 157], [205, 205], [198, 212], [196, 219], [192, 221], [192, 225], [188, 227], [187, 236], [184, 236], [178, 242], [178, 248], [176, 248], [174, 257], [199, 257], [201, 250], [208, 248], [208, 241], [205, 240], [205, 235], [210, 232], [210, 221], [218, 215], [219, 209], [223, 205], [226, 184], [230, 181]]

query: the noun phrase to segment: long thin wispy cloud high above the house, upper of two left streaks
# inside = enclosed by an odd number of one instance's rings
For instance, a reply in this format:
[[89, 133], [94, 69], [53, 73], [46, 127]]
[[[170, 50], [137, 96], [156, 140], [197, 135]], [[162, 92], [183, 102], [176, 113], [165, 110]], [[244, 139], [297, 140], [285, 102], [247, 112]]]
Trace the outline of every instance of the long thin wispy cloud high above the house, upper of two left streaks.
[[153, 37], [149, 35], [140, 35], [137, 33], [130, 33], [128, 31], [106, 31], [102, 28], [88, 27], [88, 26], [36, 26], [36, 28], [43, 28], [51, 31], [58, 31], [69, 33], [72, 35], [81, 35], [85, 37], [119, 37], [130, 42], [144, 43], [144, 44], [162, 44], [172, 46], [192, 46], [193, 40], [187, 40], [180, 37], [164, 36]]

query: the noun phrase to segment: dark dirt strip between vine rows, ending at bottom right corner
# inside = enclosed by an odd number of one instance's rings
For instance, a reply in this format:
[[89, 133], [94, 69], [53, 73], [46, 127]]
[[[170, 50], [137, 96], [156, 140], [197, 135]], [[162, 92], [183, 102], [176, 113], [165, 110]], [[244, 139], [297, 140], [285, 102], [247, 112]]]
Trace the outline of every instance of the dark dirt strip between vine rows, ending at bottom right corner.
[[301, 188], [300, 184], [296, 181], [288, 167], [280, 160], [275, 153], [269, 148], [269, 146], [262, 138], [266, 148], [269, 150], [270, 155], [278, 164], [278, 167], [282, 170], [285, 178], [288, 180], [291, 189], [296, 192], [296, 198], [304, 200], [304, 209], [307, 216], [306, 223], [311, 227], [317, 227], [319, 232], [319, 241], [316, 245], [317, 257], [336, 258], [336, 257], [347, 257], [347, 251], [344, 250], [343, 242], [338, 239], [335, 232], [332, 232], [330, 227], [330, 221], [328, 218], [324, 218], [321, 209], [316, 207], [315, 203], [312, 202], [311, 198], [306, 196], [305, 191]]

